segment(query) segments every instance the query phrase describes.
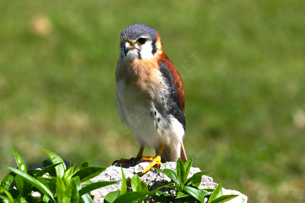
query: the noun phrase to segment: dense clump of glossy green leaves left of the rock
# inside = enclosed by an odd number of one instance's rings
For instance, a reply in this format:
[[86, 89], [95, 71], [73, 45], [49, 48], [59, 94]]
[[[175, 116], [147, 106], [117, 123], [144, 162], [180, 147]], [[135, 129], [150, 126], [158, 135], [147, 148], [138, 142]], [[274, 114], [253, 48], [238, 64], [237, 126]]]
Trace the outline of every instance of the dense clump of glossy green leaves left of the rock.
[[89, 179], [102, 173], [105, 167], [89, 166], [87, 161], [75, 169], [71, 163], [66, 166], [57, 154], [44, 148], [52, 163], [44, 161], [44, 169], [27, 170], [18, 152], [12, 149], [18, 169], [3, 165], [12, 172], [0, 184], [0, 202], [90, 203], [93, 202], [88, 194], [90, 191], [118, 182], [93, 183]]

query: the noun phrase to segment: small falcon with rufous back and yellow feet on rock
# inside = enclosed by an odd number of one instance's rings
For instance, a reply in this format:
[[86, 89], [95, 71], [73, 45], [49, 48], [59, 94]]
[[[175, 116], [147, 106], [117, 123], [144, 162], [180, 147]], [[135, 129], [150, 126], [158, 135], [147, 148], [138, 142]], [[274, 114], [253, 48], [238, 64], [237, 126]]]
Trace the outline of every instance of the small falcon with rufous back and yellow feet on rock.
[[[129, 128], [140, 150], [136, 157], [114, 163], [150, 161], [138, 174], [153, 166], [174, 161], [187, 161], [185, 136], [185, 99], [181, 76], [163, 52], [158, 31], [138, 23], [120, 34], [120, 54], [115, 72], [116, 100], [121, 120]], [[145, 147], [156, 156], [143, 156]], [[162, 162], [161, 162], [162, 160]]]

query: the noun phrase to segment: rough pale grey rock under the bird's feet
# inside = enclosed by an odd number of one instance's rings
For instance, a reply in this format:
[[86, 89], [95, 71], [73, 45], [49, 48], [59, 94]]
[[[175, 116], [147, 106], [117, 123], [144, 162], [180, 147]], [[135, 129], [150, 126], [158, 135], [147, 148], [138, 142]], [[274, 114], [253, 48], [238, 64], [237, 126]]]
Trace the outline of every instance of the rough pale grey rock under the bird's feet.
[[[135, 173], [142, 171], [148, 165], [149, 165], [148, 162], [140, 162], [140, 161], [137, 162], [136, 166], [132, 166], [130, 163], [122, 164], [122, 168], [123, 168], [124, 175], [126, 178], [127, 191], [131, 191], [131, 185], [130, 185], [131, 178], [135, 175]], [[176, 163], [175, 162], [163, 163], [161, 165], [160, 169], [165, 169], [165, 168], [176, 171]], [[188, 178], [197, 172], [200, 172], [199, 168], [191, 167]], [[149, 186], [148, 186], [149, 191], [152, 191], [158, 187], [161, 187], [162, 185], [169, 184], [171, 182], [169, 177], [167, 177], [163, 173], [160, 173], [153, 169], [150, 170], [149, 172], [145, 173], [140, 178], [146, 185], [149, 184]], [[91, 179], [91, 181], [93, 181], [93, 182], [120, 181], [120, 180], [122, 180], [122, 174], [121, 174], [121, 168], [119, 165], [110, 166], [100, 175]], [[204, 175], [202, 177], [199, 189], [204, 189], [204, 188], [213, 188], [214, 189], [215, 187], [217, 187], [217, 185], [218, 184], [214, 183], [213, 179], [211, 177]], [[116, 190], [120, 190], [120, 189], [121, 189], [121, 182], [96, 189], [94, 191], [91, 191], [90, 193], [95, 196], [94, 197], [95, 203], [102, 203], [102, 202], [104, 202], [103, 196], [106, 196], [111, 191], [116, 191]], [[161, 191], [163, 193], [169, 193], [172, 195], [176, 194], [176, 192], [173, 188], [162, 188]], [[240, 193], [239, 191], [226, 190], [223, 188], [223, 194], [239, 194], [238, 197], [228, 201], [229, 203], [246, 203], [247, 202], [247, 196]], [[150, 202], [154, 202], [154, 199], [151, 198]]]

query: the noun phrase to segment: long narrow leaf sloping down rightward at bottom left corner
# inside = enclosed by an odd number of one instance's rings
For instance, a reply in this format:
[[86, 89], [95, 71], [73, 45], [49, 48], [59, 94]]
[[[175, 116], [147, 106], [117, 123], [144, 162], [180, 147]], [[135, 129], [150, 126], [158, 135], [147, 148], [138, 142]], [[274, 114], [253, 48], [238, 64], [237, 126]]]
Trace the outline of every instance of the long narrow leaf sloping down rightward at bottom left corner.
[[7, 168], [8, 170], [12, 171], [13, 173], [16, 173], [22, 177], [24, 177], [24, 179], [29, 182], [30, 184], [32, 184], [34, 187], [36, 187], [41, 193], [45, 194], [46, 196], [48, 196], [48, 198], [52, 201], [55, 202], [55, 199], [53, 197], [52, 192], [45, 187], [44, 184], [42, 184], [41, 182], [39, 182], [38, 180], [36, 180], [35, 178], [31, 177], [29, 174], [24, 173], [23, 171], [20, 171], [18, 169], [15, 169], [11, 166], [6, 166], [3, 164], [3, 166], [5, 168]]

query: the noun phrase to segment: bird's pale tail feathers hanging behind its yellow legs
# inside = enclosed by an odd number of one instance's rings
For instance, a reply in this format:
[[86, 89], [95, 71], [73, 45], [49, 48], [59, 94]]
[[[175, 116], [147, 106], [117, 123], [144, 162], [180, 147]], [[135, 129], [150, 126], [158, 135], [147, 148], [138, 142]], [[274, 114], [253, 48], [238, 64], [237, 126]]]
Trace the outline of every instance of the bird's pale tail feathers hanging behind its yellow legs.
[[[158, 149], [156, 149], [156, 153], [158, 152]], [[177, 162], [178, 158], [182, 160], [183, 163], [185, 163], [188, 159], [186, 158], [183, 142], [181, 142], [180, 151], [178, 152], [176, 150], [171, 150], [168, 145], [164, 146], [164, 149], [161, 154], [161, 161], [162, 163], [168, 162], [168, 161], [174, 161]]]

